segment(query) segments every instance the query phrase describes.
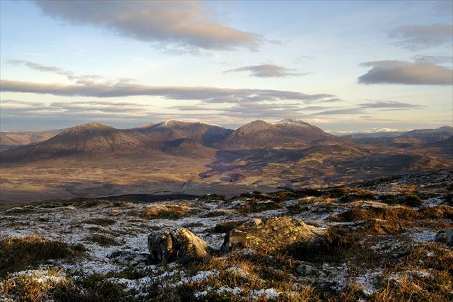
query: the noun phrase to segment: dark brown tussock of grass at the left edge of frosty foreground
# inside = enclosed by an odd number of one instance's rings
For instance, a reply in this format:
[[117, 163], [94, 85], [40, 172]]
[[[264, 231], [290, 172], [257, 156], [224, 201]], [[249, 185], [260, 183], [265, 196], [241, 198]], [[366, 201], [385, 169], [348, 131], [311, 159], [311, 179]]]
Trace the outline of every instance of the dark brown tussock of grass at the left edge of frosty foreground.
[[0, 275], [36, 267], [50, 259], [73, 255], [72, 249], [58, 240], [39, 236], [6, 237], [0, 241]]

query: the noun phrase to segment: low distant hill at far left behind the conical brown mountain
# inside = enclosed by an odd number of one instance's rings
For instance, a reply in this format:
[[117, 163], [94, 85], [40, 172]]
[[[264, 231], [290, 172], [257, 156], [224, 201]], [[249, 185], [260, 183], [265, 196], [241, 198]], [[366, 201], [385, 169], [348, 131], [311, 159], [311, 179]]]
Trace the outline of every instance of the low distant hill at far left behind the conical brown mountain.
[[63, 132], [63, 129], [45, 131], [24, 131], [24, 132], [0, 132], [0, 150], [18, 148], [24, 145], [31, 145], [45, 141], [56, 134]]

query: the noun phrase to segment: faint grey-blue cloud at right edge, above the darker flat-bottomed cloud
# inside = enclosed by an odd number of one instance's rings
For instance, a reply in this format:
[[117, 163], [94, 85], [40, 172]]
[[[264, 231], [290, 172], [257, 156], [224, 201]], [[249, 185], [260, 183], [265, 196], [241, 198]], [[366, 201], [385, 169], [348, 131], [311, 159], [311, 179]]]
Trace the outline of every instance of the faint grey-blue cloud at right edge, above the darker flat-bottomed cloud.
[[424, 49], [438, 45], [452, 45], [453, 25], [401, 25], [388, 33], [396, 45], [407, 49]]

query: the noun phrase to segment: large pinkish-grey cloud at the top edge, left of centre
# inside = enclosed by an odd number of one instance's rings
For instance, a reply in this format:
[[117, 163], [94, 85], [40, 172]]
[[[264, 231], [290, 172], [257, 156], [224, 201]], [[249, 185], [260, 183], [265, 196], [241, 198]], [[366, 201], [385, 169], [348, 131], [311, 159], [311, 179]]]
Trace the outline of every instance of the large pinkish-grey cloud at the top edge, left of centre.
[[203, 1], [35, 1], [50, 17], [186, 49], [256, 49], [260, 35], [224, 26]]

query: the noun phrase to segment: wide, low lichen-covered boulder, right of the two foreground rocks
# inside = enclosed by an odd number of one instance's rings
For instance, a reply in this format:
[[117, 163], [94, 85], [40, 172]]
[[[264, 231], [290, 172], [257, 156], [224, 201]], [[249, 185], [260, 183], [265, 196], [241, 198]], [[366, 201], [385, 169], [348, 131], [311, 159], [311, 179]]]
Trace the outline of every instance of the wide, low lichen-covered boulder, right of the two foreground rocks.
[[224, 239], [222, 251], [236, 248], [264, 248], [278, 251], [295, 244], [310, 246], [325, 241], [325, 230], [289, 216], [255, 218], [233, 228]]

